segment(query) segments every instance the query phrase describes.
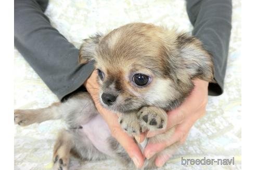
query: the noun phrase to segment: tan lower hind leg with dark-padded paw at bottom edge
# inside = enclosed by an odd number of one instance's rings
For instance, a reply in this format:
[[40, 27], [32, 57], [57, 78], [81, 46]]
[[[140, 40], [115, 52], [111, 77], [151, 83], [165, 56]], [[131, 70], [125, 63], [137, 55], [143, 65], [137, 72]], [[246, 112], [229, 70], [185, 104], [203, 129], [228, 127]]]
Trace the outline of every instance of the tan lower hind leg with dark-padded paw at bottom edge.
[[54, 146], [53, 169], [56, 169], [56, 170], [68, 169], [70, 151], [73, 146], [74, 144], [73, 144], [72, 134], [69, 133], [67, 130], [60, 131]]

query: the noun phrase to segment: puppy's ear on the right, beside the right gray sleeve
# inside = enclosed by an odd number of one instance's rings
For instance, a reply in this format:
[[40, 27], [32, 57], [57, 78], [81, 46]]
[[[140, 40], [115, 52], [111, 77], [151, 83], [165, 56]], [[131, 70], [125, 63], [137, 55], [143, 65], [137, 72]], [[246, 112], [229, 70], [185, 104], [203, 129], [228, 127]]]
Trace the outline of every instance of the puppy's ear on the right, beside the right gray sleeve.
[[177, 36], [176, 45], [183, 61], [179, 65], [190, 78], [198, 77], [208, 82], [215, 82], [212, 56], [203, 48], [199, 39], [188, 34], [181, 34]]

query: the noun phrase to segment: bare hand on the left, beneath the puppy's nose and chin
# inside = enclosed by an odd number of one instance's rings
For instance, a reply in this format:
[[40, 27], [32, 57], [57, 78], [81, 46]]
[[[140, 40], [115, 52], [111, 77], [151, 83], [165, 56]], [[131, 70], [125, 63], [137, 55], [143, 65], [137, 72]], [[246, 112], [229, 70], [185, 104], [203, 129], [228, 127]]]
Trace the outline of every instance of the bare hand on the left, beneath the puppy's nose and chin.
[[[91, 94], [93, 101], [100, 115], [107, 122], [110, 132], [114, 138], [118, 140], [118, 142], [122, 145], [122, 147], [129, 154], [129, 157], [132, 158], [136, 167], [140, 168], [144, 164], [144, 155], [140, 151], [137, 144], [134, 142], [133, 138], [127, 135], [122, 129], [120, 124], [118, 123], [117, 114], [113, 114], [111, 111], [102, 107], [99, 102], [99, 85], [97, 83], [97, 72], [94, 70], [92, 75], [84, 82], [84, 86], [87, 91]], [[137, 141], [141, 142], [145, 138], [145, 135], [140, 135]]]

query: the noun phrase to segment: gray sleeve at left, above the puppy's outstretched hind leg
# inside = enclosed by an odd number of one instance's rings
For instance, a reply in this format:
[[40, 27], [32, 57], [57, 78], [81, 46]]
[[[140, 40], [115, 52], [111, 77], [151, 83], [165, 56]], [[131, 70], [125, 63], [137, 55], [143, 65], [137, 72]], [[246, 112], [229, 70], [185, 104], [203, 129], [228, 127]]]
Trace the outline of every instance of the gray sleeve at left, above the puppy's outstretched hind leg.
[[44, 15], [48, 1], [15, 0], [14, 45], [59, 100], [81, 89], [93, 63], [79, 65], [79, 50]]

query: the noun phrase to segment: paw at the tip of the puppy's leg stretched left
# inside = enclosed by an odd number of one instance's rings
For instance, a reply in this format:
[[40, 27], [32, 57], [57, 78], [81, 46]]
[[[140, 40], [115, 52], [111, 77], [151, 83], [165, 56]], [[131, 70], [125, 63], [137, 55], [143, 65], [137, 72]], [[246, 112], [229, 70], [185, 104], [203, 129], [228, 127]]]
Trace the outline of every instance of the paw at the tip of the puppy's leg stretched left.
[[21, 126], [27, 126], [33, 122], [33, 116], [28, 110], [14, 110], [14, 122]]

